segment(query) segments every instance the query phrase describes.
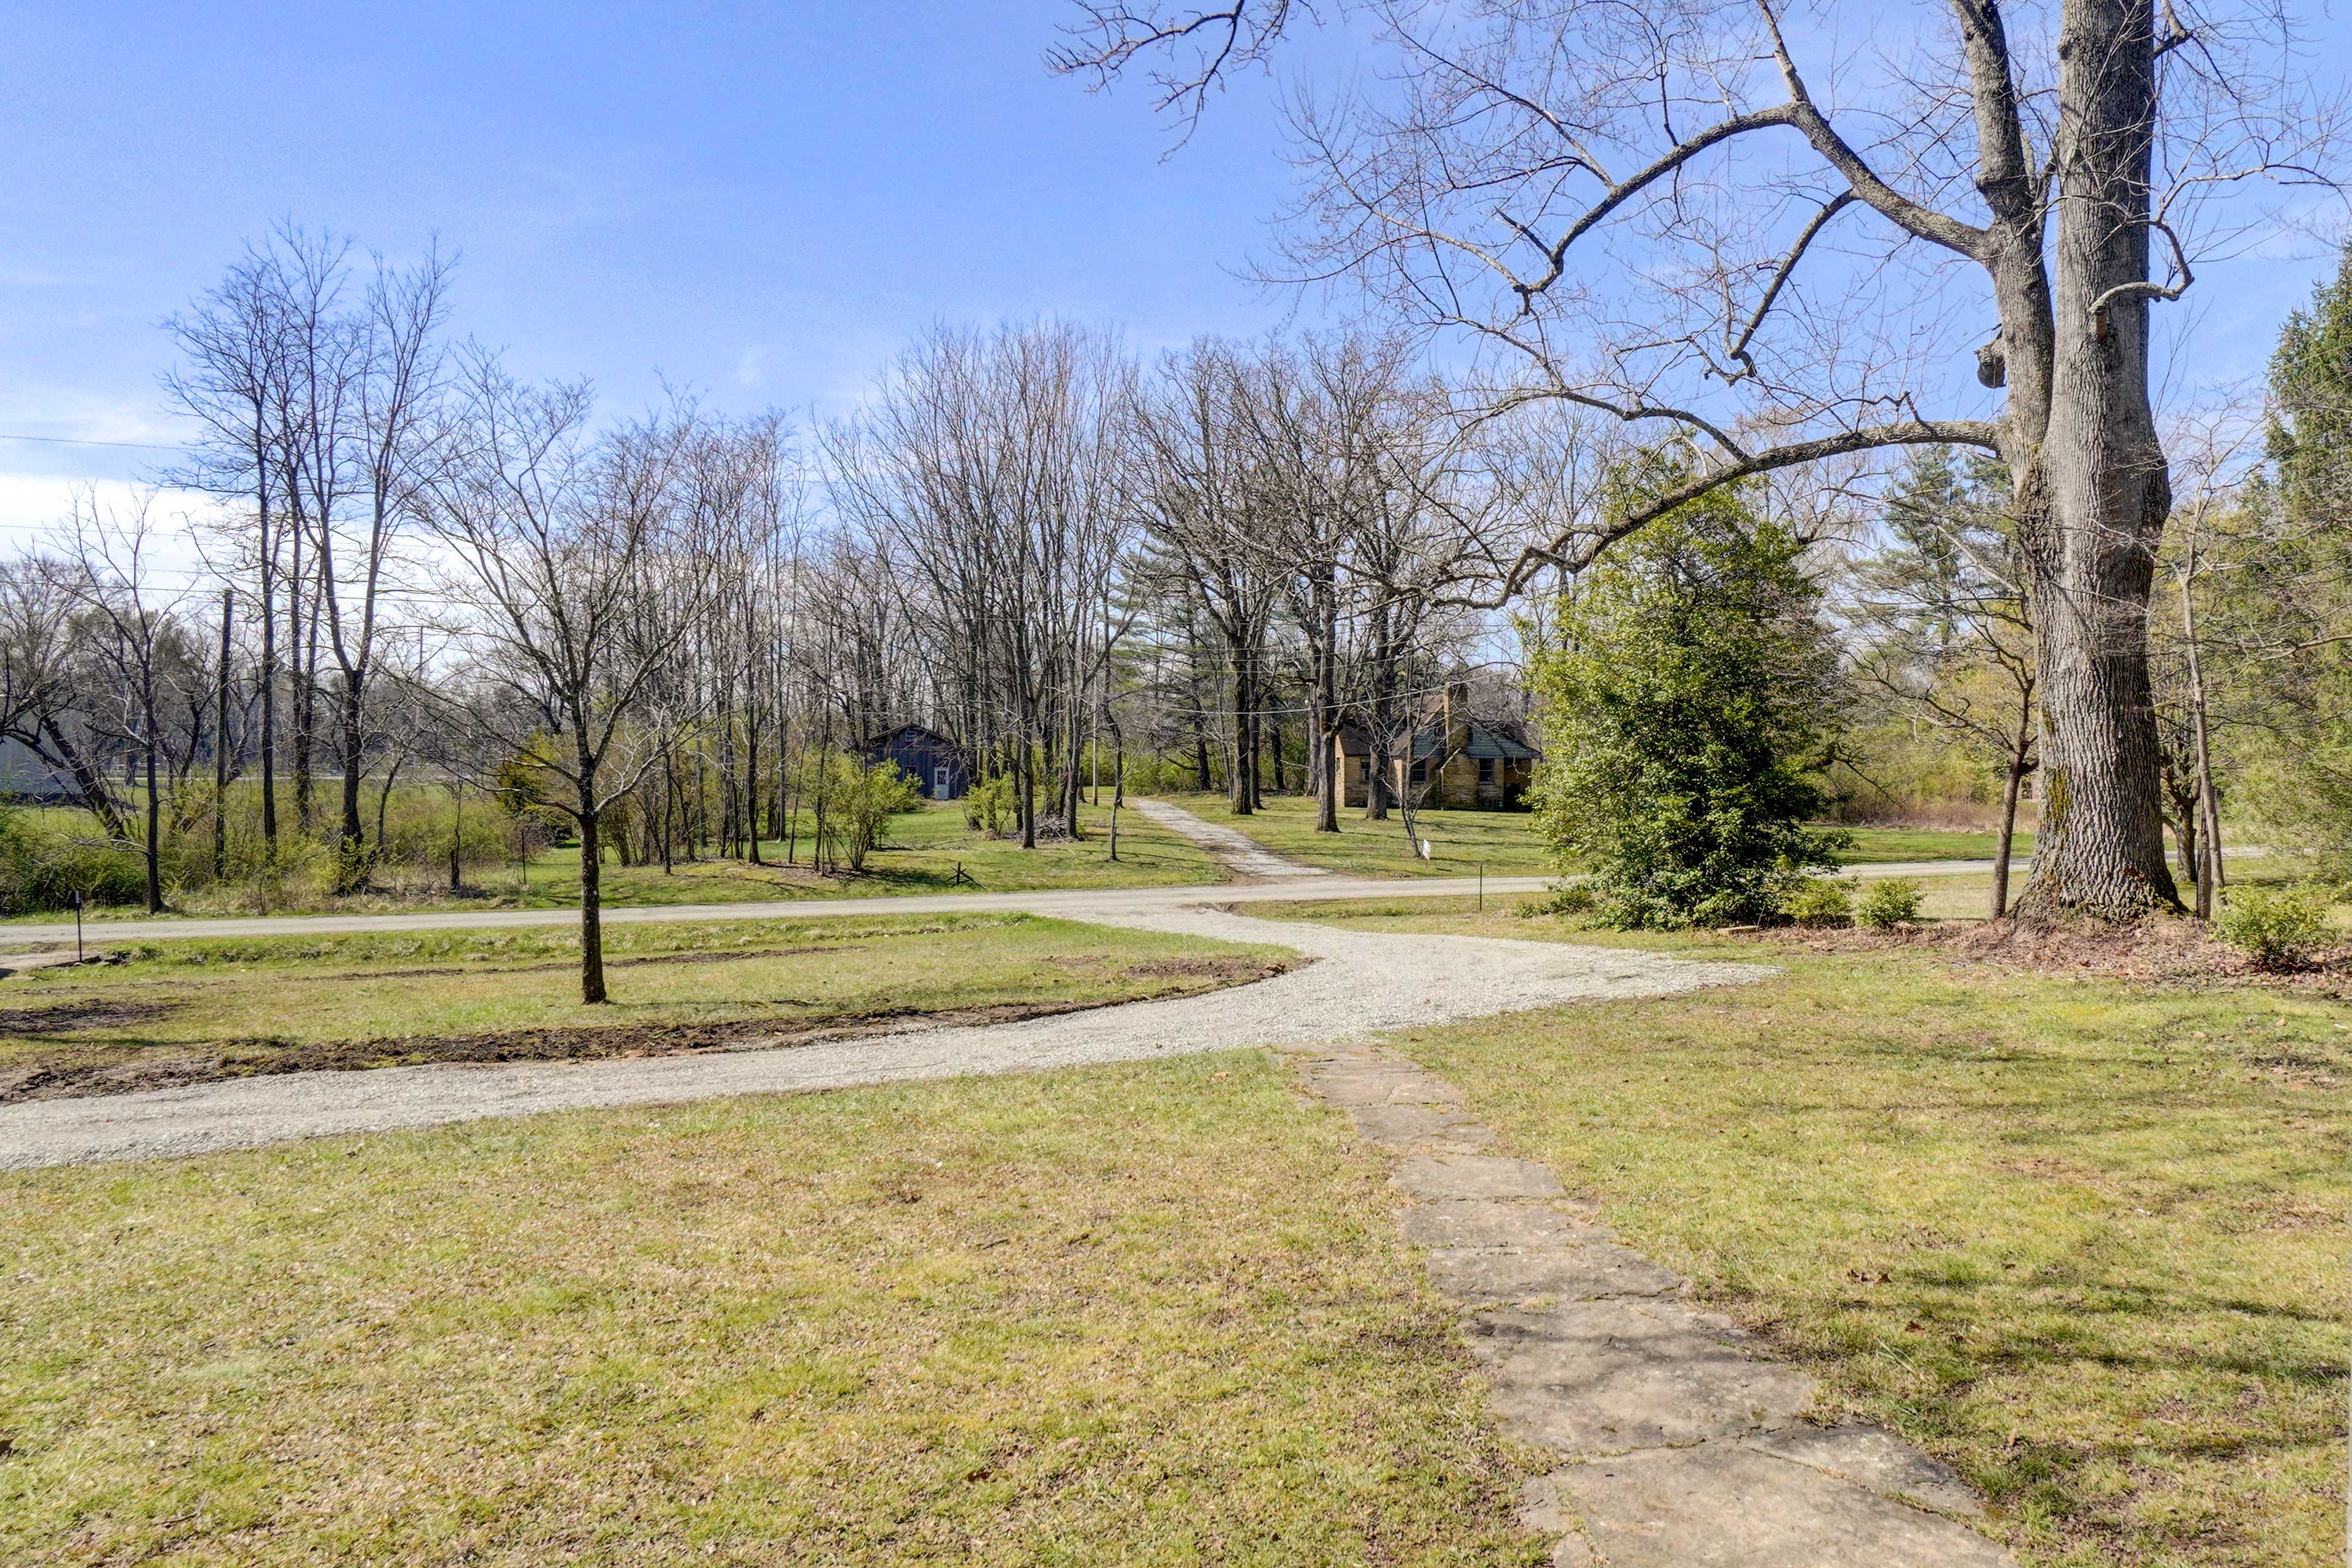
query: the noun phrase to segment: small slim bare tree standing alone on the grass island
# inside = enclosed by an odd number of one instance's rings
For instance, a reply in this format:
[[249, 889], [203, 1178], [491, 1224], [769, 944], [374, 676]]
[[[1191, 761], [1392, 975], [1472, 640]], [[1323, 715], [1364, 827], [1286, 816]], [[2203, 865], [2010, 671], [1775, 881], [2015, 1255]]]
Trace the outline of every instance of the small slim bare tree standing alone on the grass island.
[[[677, 494], [689, 433], [656, 418], [593, 442], [583, 386], [522, 386], [475, 362], [447, 458], [414, 505], [447, 552], [452, 632], [480, 682], [510, 698], [475, 693], [445, 712], [557, 785], [546, 804], [581, 839], [581, 1001], [604, 1001], [604, 813], [682, 717], [647, 712], [644, 696], [717, 595]], [[668, 639], [628, 637], [649, 597], [670, 607]]]

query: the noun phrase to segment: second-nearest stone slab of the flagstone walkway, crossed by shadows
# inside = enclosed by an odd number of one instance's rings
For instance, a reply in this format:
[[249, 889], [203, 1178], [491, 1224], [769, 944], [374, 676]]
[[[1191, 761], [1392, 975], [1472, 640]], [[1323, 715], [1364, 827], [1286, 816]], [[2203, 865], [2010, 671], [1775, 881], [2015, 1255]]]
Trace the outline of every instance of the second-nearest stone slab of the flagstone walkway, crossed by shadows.
[[1785, 1427], [1813, 1378], [1726, 1345], [1663, 1300], [1482, 1312], [1465, 1326], [1505, 1429], [1559, 1453], [1623, 1453]]

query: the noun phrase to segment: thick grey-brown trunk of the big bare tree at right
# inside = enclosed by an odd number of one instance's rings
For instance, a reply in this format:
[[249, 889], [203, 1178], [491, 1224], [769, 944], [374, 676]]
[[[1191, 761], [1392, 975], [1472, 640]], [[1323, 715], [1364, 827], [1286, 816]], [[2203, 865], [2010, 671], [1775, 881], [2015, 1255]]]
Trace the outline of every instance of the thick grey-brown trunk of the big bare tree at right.
[[[2058, 59], [2070, 113], [2056, 146], [2056, 289], [2046, 320], [2016, 322], [2025, 369], [2046, 364], [2046, 425], [2034, 442], [2032, 386], [2013, 388], [2009, 425], [2042, 691], [2042, 823], [2018, 914], [2136, 919], [2180, 907], [2147, 682], [2147, 597], [2171, 510], [2147, 395], [2150, 0], [2067, 0]], [[2004, 299], [2004, 341], [2011, 331]]]

